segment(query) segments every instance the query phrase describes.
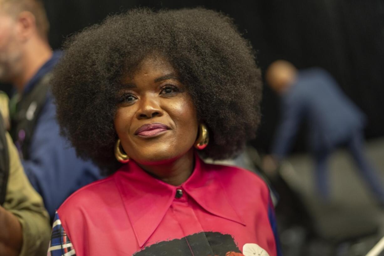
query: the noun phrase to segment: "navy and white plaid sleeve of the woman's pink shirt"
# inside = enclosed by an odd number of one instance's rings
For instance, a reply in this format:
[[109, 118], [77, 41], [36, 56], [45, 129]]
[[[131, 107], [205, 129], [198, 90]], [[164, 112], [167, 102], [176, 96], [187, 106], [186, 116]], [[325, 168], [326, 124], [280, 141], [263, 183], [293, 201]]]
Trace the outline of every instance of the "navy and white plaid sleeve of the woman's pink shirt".
[[70, 239], [65, 233], [63, 226], [61, 226], [61, 221], [59, 214], [55, 213], [55, 219], [53, 220], [53, 228], [51, 234], [51, 241], [48, 248], [47, 256], [71, 256], [75, 255], [73, 245]]

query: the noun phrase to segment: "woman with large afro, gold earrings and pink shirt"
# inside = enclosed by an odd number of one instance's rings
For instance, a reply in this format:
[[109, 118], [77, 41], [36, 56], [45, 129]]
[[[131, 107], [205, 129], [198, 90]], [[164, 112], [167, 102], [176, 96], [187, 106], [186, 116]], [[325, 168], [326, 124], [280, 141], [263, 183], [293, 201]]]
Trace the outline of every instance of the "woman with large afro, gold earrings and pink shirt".
[[110, 16], [66, 42], [52, 83], [61, 132], [109, 176], [61, 205], [48, 255], [281, 255], [265, 183], [202, 160], [237, 155], [260, 120], [260, 70], [229, 17]]

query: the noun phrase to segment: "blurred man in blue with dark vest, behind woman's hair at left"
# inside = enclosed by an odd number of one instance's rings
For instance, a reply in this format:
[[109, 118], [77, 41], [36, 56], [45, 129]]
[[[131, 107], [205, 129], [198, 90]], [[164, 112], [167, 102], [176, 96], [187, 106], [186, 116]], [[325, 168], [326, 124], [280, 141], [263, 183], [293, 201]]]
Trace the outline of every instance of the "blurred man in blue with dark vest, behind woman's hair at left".
[[0, 81], [17, 93], [10, 103], [11, 136], [26, 175], [48, 213], [75, 190], [99, 178], [60, 136], [50, 93], [51, 70], [60, 58], [48, 44], [49, 23], [38, 0], [0, 0]]

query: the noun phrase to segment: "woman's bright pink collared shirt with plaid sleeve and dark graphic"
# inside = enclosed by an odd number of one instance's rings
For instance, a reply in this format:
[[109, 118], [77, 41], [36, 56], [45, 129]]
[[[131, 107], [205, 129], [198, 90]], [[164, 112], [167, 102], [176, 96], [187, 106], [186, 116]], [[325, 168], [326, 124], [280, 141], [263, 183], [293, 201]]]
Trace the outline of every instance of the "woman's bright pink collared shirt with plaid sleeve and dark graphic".
[[[206, 164], [198, 156], [180, 186], [130, 161], [76, 191], [57, 213], [48, 255], [281, 255], [265, 183], [250, 171]], [[55, 254], [54, 243], [62, 254]]]

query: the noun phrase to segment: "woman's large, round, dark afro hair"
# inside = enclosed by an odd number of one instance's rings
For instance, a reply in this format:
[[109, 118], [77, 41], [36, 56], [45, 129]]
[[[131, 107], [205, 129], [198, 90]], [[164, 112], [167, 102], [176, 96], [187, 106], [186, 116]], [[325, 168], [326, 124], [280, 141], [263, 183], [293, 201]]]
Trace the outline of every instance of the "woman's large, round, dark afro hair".
[[61, 133], [79, 156], [109, 174], [120, 166], [114, 116], [121, 78], [152, 53], [174, 66], [209, 129], [209, 145], [199, 151], [203, 158], [233, 157], [255, 136], [260, 70], [250, 43], [222, 13], [136, 8], [84, 29], [64, 49], [52, 80]]

